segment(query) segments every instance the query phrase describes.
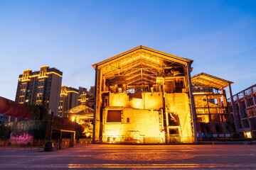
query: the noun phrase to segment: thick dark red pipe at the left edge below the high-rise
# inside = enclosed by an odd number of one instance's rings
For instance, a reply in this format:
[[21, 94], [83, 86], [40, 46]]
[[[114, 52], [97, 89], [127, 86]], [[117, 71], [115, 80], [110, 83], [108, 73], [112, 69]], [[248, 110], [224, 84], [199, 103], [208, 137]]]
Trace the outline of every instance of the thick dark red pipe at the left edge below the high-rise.
[[29, 113], [28, 106], [11, 101], [7, 98], [0, 96], [0, 113], [4, 115], [11, 115], [16, 118], [29, 119], [31, 114]]

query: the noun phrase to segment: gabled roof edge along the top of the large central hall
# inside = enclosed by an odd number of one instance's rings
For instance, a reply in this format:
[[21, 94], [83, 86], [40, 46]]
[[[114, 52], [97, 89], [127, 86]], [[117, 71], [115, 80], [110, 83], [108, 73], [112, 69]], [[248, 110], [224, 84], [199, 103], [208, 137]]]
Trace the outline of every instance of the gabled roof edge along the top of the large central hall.
[[189, 60], [189, 59], [186, 59], [186, 58], [183, 58], [183, 57], [178, 57], [176, 55], [170, 55], [170, 54], [168, 54], [166, 52], [161, 52], [161, 51], [154, 50], [152, 48], [144, 47], [144, 46], [140, 45], [139, 47], [134, 47], [132, 50], [128, 50], [126, 52], [122, 52], [121, 54], [116, 55], [114, 57], [110, 57], [107, 60], [104, 60], [102, 62], [98, 62], [97, 64], [93, 64], [92, 67], [94, 69], [96, 69], [96, 66], [103, 67], [105, 64], [116, 62], [116, 61], [118, 61], [118, 60], [120, 60], [122, 58], [125, 58], [125, 57], [127, 57], [127, 55], [129, 55], [131, 53], [142, 52], [142, 51], [143, 52], [148, 52], [148, 53], [151, 53], [151, 54], [153, 53], [154, 55], [157, 55], [158, 57], [160, 57], [163, 60], [177, 62], [177, 63], [180, 63], [180, 64], [186, 64], [187, 62], [192, 64], [192, 62], [193, 62], [193, 60]]

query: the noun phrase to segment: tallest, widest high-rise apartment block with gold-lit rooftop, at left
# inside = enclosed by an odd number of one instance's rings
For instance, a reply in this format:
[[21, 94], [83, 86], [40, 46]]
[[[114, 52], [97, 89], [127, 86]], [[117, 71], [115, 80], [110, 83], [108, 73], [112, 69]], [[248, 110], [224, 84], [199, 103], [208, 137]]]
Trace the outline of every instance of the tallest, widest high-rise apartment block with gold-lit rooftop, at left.
[[18, 77], [15, 101], [45, 106], [54, 115], [58, 115], [62, 75], [60, 70], [48, 66], [43, 66], [36, 72], [31, 69], [24, 70]]

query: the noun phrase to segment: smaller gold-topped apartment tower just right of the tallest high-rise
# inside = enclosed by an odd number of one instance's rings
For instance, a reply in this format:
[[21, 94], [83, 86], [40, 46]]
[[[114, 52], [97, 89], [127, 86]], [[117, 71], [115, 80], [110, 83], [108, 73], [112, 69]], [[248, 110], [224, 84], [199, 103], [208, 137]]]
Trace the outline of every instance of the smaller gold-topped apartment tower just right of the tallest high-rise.
[[58, 109], [58, 116], [64, 117], [65, 111], [78, 106], [78, 89], [68, 86], [61, 86], [60, 106]]

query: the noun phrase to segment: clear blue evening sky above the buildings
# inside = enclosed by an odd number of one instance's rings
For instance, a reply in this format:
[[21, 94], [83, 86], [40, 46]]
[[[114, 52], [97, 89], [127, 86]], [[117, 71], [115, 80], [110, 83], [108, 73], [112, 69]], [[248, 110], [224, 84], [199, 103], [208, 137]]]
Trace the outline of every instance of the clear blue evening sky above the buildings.
[[256, 84], [256, 1], [0, 0], [0, 96], [14, 100], [18, 75], [43, 65], [63, 85], [94, 85], [92, 64], [139, 45], [194, 60], [233, 81]]

